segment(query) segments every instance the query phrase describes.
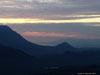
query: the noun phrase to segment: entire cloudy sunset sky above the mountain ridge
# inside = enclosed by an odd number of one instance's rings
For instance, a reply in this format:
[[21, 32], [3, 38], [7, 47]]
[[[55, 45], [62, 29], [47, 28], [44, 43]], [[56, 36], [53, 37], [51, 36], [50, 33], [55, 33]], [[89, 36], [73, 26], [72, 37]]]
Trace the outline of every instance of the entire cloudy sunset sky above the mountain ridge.
[[100, 0], [0, 0], [0, 23], [27, 40], [99, 46]]

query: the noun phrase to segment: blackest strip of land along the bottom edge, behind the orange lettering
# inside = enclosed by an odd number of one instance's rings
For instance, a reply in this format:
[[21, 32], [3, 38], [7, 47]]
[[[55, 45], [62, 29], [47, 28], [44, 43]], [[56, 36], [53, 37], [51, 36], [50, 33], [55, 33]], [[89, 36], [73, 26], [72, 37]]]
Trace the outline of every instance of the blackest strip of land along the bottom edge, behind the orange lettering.
[[64, 66], [48, 68], [37, 75], [100, 75], [99, 65]]

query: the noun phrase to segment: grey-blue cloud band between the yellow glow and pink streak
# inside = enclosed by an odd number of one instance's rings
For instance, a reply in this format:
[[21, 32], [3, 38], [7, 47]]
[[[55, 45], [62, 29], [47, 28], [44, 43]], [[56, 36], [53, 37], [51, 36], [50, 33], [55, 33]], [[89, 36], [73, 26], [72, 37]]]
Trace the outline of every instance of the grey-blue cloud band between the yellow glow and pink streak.
[[84, 36], [100, 36], [100, 23], [52, 23], [52, 24], [9, 24], [17, 32], [78, 33]]

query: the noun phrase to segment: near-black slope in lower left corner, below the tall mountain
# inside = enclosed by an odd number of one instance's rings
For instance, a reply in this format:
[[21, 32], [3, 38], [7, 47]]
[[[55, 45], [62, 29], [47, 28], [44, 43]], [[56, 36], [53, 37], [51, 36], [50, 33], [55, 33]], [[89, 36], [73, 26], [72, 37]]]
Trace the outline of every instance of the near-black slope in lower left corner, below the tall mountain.
[[0, 45], [0, 75], [29, 73], [33, 60], [28, 54]]

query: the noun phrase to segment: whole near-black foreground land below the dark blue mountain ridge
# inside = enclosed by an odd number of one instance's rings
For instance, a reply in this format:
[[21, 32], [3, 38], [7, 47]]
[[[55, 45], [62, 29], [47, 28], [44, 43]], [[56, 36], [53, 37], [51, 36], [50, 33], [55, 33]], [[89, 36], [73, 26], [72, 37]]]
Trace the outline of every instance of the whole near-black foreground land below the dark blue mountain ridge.
[[0, 45], [0, 75], [100, 75], [100, 51], [68, 51], [33, 59], [20, 50]]

